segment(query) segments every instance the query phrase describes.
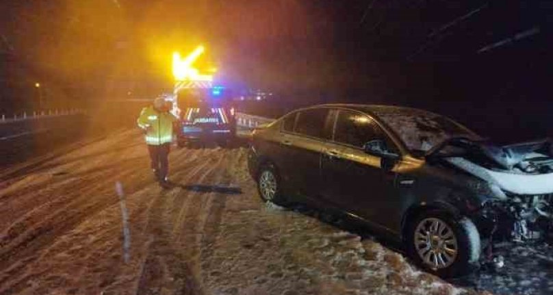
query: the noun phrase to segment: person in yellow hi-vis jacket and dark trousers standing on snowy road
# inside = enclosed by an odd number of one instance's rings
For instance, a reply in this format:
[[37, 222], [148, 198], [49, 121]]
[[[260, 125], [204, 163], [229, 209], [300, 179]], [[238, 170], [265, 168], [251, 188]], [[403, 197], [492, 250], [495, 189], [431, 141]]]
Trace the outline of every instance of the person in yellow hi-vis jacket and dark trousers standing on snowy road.
[[138, 127], [144, 130], [155, 179], [162, 186], [168, 185], [169, 151], [173, 136], [173, 123], [178, 120], [170, 113], [172, 103], [157, 97], [153, 105], [144, 107], [138, 117]]

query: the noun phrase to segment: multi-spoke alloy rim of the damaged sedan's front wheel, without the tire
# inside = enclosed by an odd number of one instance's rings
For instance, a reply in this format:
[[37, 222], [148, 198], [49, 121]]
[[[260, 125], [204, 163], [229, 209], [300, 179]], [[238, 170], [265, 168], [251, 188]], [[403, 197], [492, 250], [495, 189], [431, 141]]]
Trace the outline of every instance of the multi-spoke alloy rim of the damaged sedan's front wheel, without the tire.
[[451, 227], [439, 218], [425, 218], [415, 229], [415, 249], [422, 262], [433, 270], [451, 266], [459, 252]]

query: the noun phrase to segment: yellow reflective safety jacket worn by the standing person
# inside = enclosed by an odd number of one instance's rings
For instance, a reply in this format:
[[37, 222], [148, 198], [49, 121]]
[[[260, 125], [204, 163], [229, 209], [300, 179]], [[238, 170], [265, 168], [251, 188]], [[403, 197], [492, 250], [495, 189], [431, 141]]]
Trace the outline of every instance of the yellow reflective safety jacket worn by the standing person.
[[157, 112], [150, 106], [142, 109], [136, 122], [146, 130], [146, 144], [160, 145], [172, 142], [172, 125], [177, 120], [170, 112]]

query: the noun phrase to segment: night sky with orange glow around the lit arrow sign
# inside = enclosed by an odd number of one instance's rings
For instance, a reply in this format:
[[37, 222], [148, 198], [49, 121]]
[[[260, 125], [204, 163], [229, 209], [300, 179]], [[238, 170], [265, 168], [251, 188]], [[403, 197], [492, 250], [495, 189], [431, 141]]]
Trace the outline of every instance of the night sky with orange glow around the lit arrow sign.
[[234, 87], [551, 134], [552, 10], [550, 1], [2, 1], [1, 99], [38, 79], [68, 97], [146, 95], [170, 85], [172, 51], [201, 43], [200, 66], [217, 66]]

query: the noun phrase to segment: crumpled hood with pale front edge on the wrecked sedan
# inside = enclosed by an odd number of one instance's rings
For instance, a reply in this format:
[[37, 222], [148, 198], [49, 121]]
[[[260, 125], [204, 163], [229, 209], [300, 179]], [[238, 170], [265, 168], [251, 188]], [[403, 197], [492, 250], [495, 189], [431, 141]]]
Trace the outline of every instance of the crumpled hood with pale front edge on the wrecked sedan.
[[467, 153], [443, 157], [455, 168], [513, 194], [553, 193], [553, 152], [550, 140], [493, 146], [471, 142]]

